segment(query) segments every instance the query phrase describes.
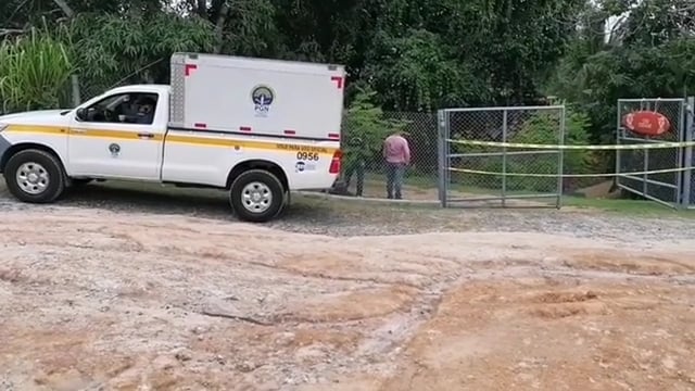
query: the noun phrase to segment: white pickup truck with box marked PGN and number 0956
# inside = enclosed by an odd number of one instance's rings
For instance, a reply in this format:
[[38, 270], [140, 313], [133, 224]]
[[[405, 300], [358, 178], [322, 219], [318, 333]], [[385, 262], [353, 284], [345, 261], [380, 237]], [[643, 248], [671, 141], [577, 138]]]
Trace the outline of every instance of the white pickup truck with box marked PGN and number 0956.
[[170, 66], [170, 86], [0, 116], [10, 192], [48, 203], [92, 179], [212, 187], [242, 220], [267, 222], [290, 191], [333, 185], [343, 66], [197, 53], [175, 53]]

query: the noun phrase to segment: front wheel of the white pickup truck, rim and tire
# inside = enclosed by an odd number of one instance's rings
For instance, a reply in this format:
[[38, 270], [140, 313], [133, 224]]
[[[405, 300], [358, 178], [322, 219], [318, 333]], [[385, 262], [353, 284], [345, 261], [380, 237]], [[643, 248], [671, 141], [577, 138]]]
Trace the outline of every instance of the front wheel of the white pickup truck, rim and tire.
[[4, 167], [8, 190], [16, 199], [29, 203], [55, 201], [65, 189], [65, 174], [52, 154], [28, 149], [12, 155]]

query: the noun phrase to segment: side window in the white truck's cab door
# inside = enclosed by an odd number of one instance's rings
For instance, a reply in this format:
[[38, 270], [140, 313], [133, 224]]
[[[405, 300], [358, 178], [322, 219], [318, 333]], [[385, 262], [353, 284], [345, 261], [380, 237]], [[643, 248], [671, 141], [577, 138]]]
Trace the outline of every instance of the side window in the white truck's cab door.
[[84, 123], [151, 125], [159, 96], [152, 92], [127, 92], [106, 97], [80, 113]]

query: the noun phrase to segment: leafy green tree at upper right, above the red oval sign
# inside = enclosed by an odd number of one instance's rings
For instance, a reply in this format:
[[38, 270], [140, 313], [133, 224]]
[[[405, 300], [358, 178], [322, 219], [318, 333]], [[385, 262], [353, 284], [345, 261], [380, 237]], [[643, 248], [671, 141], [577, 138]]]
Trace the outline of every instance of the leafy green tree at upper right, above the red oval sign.
[[[623, 14], [609, 36], [603, 22]], [[620, 98], [683, 97], [695, 91], [695, 7], [691, 1], [606, 0], [584, 12], [546, 93], [574, 103], [593, 122], [592, 142], [615, 140]], [[598, 28], [602, 27], [602, 28]]]

